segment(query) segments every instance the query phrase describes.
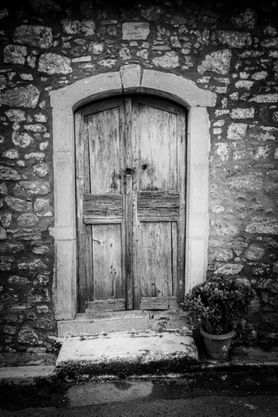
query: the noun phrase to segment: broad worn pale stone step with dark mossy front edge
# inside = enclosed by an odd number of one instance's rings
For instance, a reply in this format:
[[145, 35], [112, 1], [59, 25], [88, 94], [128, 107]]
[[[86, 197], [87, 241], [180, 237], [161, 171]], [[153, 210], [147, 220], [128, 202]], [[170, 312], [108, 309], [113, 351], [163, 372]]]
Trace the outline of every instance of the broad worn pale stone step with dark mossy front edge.
[[188, 332], [119, 332], [67, 338], [56, 370], [74, 379], [98, 375], [149, 375], [186, 372], [199, 361]]

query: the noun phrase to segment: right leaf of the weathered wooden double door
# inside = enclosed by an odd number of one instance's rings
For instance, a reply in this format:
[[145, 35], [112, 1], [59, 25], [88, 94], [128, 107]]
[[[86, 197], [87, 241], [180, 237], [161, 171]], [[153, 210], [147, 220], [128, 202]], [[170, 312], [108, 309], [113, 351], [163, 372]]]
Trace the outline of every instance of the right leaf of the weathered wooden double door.
[[184, 288], [186, 119], [158, 99], [132, 108], [133, 309], [163, 308]]

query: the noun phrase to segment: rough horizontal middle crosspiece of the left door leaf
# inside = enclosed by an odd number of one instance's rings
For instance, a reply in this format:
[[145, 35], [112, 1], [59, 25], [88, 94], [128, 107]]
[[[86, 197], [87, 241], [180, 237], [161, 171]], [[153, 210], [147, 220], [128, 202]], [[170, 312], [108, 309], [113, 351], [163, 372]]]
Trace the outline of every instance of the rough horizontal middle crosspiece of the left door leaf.
[[84, 194], [83, 220], [95, 218], [122, 218], [123, 199], [121, 194]]

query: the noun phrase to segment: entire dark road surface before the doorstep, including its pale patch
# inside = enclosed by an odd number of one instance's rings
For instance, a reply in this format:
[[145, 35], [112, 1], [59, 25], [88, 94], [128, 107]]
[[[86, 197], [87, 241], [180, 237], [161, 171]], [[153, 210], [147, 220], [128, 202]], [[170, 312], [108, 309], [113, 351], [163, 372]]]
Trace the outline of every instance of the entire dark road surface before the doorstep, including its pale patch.
[[276, 369], [0, 386], [1, 417], [278, 417]]

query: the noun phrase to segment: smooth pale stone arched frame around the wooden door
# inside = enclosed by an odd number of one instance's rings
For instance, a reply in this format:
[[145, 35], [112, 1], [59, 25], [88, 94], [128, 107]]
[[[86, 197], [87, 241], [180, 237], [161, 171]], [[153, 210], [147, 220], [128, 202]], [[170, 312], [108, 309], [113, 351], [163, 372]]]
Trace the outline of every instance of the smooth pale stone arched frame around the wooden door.
[[206, 277], [208, 250], [207, 107], [215, 106], [213, 92], [202, 90], [183, 76], [125, 65], [76, 81], [50, 92], [54, 151], [55, 240], [54, 302], [56, 320], [76, 316], [76, 201], [74, 112], [97, 99], [124, 93], [171, 99], [188, 111], [186, 176], [186, 293]]

